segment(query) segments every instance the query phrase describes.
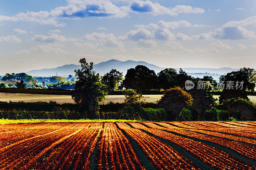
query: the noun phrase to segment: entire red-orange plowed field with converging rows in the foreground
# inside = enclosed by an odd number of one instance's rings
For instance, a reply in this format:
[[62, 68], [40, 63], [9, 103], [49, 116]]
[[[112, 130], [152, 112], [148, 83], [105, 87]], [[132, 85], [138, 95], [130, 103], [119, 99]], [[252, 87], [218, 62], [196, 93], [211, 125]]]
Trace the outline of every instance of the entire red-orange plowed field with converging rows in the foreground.
[[255, 169], [256, 122], [0, 124], [0, 169]]

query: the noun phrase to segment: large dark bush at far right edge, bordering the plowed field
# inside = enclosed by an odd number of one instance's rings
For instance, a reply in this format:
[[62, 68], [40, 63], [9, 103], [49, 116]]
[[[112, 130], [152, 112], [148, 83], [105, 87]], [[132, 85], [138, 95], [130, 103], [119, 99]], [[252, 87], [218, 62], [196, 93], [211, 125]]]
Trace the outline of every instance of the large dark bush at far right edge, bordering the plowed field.
[[228, 99], [223, 101], [223, 105], [233, 117], [240, 120], [256, 120], [256, 105], [250, 100], [245, 99]]

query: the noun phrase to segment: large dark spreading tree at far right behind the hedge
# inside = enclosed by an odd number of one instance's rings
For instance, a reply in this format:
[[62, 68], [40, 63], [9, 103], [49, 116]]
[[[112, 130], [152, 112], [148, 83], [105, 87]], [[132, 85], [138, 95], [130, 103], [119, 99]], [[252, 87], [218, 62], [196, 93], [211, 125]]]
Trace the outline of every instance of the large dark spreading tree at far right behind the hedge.
[[[254, 90], [255, 83], [251, 82], [249, 72], [240, 69], [238, 71], [232, 71], [225, 75], [224, 79], [224, 89], [220, 95], [220, 104], [227, 99], [246, 99], [247, 97], [246, 90]], [[243, 82], [243, 83], [241, 83]], [[228, 86], [227, 86], [228, 85]]]

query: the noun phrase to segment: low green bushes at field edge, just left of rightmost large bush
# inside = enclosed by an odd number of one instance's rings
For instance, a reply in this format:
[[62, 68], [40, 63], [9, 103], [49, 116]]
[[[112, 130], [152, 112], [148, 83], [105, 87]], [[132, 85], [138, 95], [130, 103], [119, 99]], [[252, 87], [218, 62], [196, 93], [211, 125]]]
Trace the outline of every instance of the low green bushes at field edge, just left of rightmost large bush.
[[212, 107], [199, 116], [199, 120], [204, 121], [228, 121], [230, 114], [228, 110], [218, 110]]

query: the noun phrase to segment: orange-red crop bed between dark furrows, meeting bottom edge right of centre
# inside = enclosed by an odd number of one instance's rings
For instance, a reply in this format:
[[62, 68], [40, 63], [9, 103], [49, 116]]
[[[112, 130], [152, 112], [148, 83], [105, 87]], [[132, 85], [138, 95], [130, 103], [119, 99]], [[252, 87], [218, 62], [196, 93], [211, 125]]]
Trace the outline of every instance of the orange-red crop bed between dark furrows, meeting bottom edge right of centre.
[[171, 146], [126, 123], [118, 122], [132, 139], [140, 146], [150, 163], [157, 169], [200, 169]]

